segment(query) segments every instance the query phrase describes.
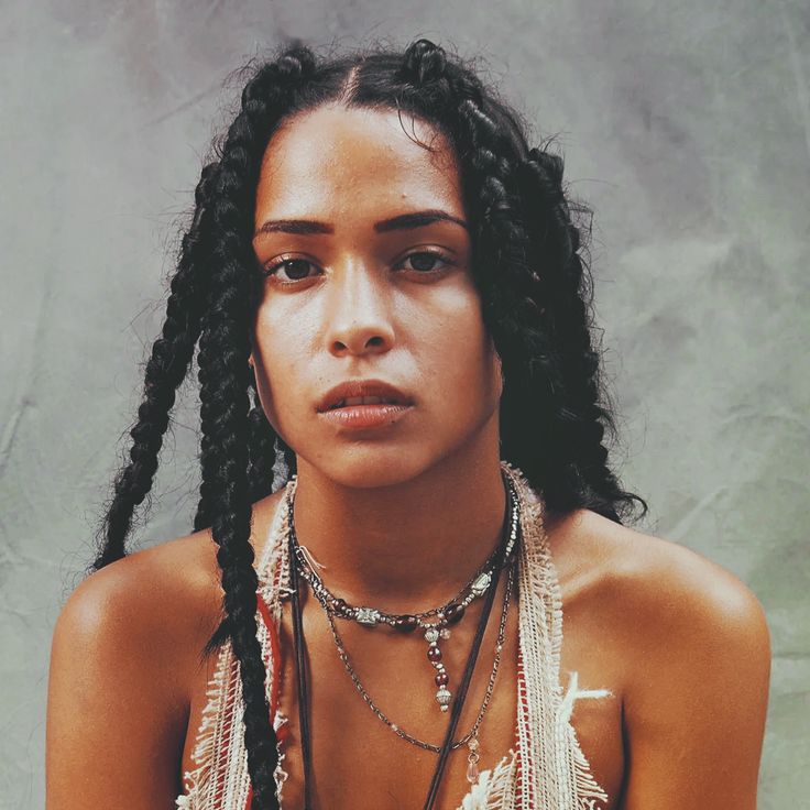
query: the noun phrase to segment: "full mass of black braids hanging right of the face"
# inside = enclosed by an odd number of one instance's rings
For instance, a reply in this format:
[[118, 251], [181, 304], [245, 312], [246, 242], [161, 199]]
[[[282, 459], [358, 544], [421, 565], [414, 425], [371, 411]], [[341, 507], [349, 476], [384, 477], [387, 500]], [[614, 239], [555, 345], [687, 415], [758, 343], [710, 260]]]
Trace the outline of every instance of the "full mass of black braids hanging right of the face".
[[[483, 317], [510, 381], [502, 445], [552, 508], [588, 506], [617, 519], [620, 490], [602, 444], [610, 415], [600, 405], [600, 357], [592, 347], [590, 275], [562, 193], [562, 162], [527, 153], [519, 127], [488, 102], [477, 77], [419, 41], [405, 72], [458, 110], [446, 123], [460, 161], [473, 234]], [[528, 180], [527, 180], [528, 177]], [[554, 317], [550, 316], [554, 313]], [[532, 429], [527, 429], [527, 425]], [[562, 472], [562, 474], [560, 474]]]

